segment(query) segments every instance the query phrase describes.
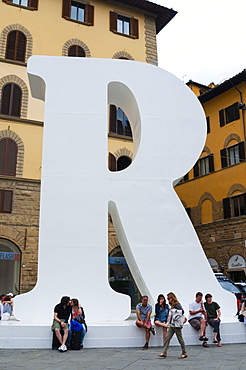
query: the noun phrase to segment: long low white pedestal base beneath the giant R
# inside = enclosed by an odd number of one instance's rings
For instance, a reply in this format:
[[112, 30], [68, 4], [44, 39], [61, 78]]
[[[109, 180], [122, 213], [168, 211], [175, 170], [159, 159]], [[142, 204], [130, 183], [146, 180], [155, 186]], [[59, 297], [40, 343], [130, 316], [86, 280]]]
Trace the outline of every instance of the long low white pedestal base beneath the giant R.
[[[145, 332], [134, 324], [135, 320], [124, 322], [88, 323], [85, 348], [142, 347]], [[162, 329], [156, 327], [156, 335], [151, 334], [150, 346], [162, 346]], [[199, 333], [189, 323], [184, 325], [183, 336], [186, 345], [201, 345]], [[207, 328], [209, 344], [212, 343], [212, 328]], [[237, 317], [224, 318], [221, 323], [222, 343], [246, 343], [246, 325]], [[0, 348], [51, 348], [51, 323], [30, 323], [20, 321], [0, 321]], [[171, 345], [178, 345], [174, 336]]]

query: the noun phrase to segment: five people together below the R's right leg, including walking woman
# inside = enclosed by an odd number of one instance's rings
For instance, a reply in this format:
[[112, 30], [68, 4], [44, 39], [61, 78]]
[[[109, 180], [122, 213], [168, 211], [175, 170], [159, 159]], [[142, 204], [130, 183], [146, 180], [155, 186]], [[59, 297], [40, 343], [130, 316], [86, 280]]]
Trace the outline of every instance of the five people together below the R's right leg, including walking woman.
[[[203, 347], [209, 347], [208, 338], [206, 337], [206, 327], [211, 325], [213, 327], [213, 343], [216, 343], [218, 347], [221, 347], [220, 337], [220, 316], [221, 310], [218, 303], [213, 302], [212, 295], [210, 293], [205, 295], [205, 302], [203, 302], [203, 294], [197, 292], [195, 300], [189, 304], [189, 324], [197, 331], [200, 332], [199, 340], [202, 342]], [[187, 351], [185, 342], [182, 335], [182, 329], [187, 318], [184, 315], [184, 309], [178, 301], [176, 295], [173, 292], [167, 294], [168, 304], [166, 303], [163, 294], [160, 294], [157, 298], [155, 305], [155, 319], [154, 324], [163, 328], [163, 350], [159, 354], [159, 357], [166, 358], [167, 350], [169, 348], [170, 340], [173, 335], [176, 334], [179, 344], [182, 349], [182, 354], [179, 356], [180, 359], [186, 358]], [[148, 303], [148, 296], [142, 296], [141, 303], [136, 307], [136, 325], [139, 328], [145, 329], [146, 342], [142, 347], [143, 350], [149, 346], [150, 333], [156, 334], [155, 328], [151, 323], [152, 306]]]

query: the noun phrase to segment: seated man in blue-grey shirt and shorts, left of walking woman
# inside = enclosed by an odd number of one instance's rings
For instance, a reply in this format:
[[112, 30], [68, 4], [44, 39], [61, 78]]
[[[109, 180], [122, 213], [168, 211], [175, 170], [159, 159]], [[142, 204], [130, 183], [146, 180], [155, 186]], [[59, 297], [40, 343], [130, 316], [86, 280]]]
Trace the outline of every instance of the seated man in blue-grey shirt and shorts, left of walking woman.
[[146, 342], [142, 349], [148, 349], [149, 347], [150, 332], [155, 335], [155, 329], [152, 327], [150, 321], [152, 306], [148, 303], [148, 300], [147, 295], [142, 296], [141, 303], [138, 303], [136, 307], [137, 321], [135, 324], [137, 327], [145, 329]]

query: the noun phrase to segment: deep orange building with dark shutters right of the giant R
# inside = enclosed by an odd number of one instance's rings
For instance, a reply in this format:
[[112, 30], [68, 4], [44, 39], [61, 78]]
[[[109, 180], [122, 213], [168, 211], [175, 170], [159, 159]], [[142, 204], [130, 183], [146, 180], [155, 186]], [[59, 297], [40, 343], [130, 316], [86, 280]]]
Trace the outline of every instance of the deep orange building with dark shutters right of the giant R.
[[217, 86], [187, 85], [204, 108], [207, 139], [194, 168], [175, 190], [213, 270], [245, 281], [246, 70]]

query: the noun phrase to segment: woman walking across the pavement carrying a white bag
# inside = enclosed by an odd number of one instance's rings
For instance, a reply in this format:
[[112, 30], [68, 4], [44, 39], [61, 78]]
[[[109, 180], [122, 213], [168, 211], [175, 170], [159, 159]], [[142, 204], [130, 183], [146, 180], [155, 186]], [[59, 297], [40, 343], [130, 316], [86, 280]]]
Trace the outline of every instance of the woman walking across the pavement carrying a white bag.
[[188, 355], [186, 352], [185, 342], [182, 335], [182, 329], [184, 324], [184, 310], [181, 304], [179, 303], [176, 295], [173, 292], [168, 293], [167, 299], [169, 305], [171, 306], [167, 321], [168, 330], [162, 353], [159, 354], [158, 356], [164, 358], [167, 357], [167, 350], [170, 344], [170, 340], [172, 339], [173, 335], [176, 334], [176, 337], [182, 348], [182, 354], [178, 358], [186, 358], [188, 357]]

